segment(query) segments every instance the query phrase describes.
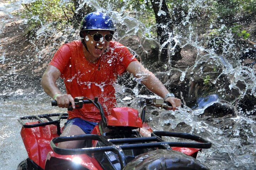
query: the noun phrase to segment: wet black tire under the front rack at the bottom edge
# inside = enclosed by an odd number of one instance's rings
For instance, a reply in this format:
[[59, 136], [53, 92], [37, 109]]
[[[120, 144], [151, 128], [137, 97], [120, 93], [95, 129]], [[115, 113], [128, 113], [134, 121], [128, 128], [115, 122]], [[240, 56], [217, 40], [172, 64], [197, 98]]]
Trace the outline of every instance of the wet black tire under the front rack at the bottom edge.
[[195, 158], [181, 152], [157, 149], [138, 155], [123, 170], [209, 170]]

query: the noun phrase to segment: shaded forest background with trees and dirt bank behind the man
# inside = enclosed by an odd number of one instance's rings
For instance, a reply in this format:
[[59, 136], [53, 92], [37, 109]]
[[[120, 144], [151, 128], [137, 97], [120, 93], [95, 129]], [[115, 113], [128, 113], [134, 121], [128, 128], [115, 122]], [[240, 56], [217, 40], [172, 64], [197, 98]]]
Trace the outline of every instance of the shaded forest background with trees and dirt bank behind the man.
[[[256, 60], [253, 0], [36, 0], [24, 1], [18, 10], [7, 10], [4, 12], [11, 16], [0, 16], [8, 21], [0, 35], [1, 83], [7, 85], [1, 86], [3, 98], [31, 87], [41, 92], [39, 82], [54, 53], [60, 45], [80, 39], [81, 19], [96, 10], [112, 16], [117, 27], [115, 40], [128, 46], [153, 72], [170, 68], [184, 71], [195, 64], [198, 51], [181, 46], [182, 41], [195, 41], [231, 63], [238, 61], [234, 67], [248, 58]], [[170, 79], [161, 74], [158, 77], [161, 81]], [[179, 77], [174, 72], [170, 91], [181, 86]], [[211, 75], [200, 81], [210, 84]]]

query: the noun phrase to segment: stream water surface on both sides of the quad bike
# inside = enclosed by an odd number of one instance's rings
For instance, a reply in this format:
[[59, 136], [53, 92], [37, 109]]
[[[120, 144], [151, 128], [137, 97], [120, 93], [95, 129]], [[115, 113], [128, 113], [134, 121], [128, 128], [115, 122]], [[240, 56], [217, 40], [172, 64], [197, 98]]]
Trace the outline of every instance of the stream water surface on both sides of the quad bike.
[[[2, 170], [16, 169], [17, 165], [27, 158], [26, 149], [20, 137], [21, 125], [17, 121], [19, 117], [66, 112], [66, 109], [50, 106], [50, 100], [46, 97], [36, 101], [20, 99], [0, 102], [0, 165]], [[129, 103], [132, 103], [131, 107], [140, 110], [137, 101], [133, 99]], [[127, 102], [118, 105], [127, 106]], [[233, 118], [229, 115], [220, 120], [207, 116], [198, 117], [196, 111], [188, 112], [188, 110], [190, 109], [180, 108], [179, 111], [173, 112], [160, 108], [148, 108], [146, 120], [153, 130], [188, 132], [212, 142], [212, 148], [203, 149], [197, 157], [200, 162], [212, 170], [256, 169], [253, 155], [255, 134], [251, 133], [255, 128], [253, 127], [255, 122], [252, 121], [255, 117]], [[223, 127], [226, 127], [225, 130]], [[244, 131], [240, 135], [239, 129]], [[166, 140], [178, 141], [176, 138], [166, 138]]]

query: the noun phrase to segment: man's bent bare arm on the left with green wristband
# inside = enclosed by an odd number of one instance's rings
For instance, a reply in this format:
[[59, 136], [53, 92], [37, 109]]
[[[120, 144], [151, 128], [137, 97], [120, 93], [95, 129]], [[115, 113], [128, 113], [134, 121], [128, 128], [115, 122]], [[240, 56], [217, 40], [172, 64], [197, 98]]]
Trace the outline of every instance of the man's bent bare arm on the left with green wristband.
[[62, 94], [56, 85], [56, 80], [60, 75], [58, 68], [49, 65], [43, 74], [41, 85], [44, 91], [57, 101], [59, 107], [68, 108], [69, 102], [71, 102], [72, 107], [75, 108], [74, 98], [71, 95]]

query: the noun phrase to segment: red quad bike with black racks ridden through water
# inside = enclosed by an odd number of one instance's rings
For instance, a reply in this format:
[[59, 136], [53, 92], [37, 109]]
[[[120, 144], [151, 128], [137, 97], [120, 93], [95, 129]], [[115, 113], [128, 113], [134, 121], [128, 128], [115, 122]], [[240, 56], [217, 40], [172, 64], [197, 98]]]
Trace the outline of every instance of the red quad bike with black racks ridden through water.
[[[170, 108], [163, 100], [146, 100], [139, 113], [130, 107], [116, 107], [106, 117], [98, 99], [75, 97], [76, 109], [94, 104], [101, 121], [91, 134], [60, 136], [67, 113], [42, 114], [18, 119], [28, 158], [18, 170], [208, 170], [195, 158], [211, 143], [202, 137], [168, 131], [153, 131], [144, 123], [146, 106]], [[57, 106], [56, 101], [52, 101]], [[86, 105], [85, 105], [86, 107]], [[55, 120], [53, 120], [55, 118]], [[57, 118], [57, 119], [56, 119]], [[63, 122], [62, 122], [63, 121]], [[163, 137], [183, 138], [169, 142]], [[57, 143], [84, 140], [84, 147], [64, 149]]]

